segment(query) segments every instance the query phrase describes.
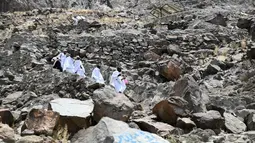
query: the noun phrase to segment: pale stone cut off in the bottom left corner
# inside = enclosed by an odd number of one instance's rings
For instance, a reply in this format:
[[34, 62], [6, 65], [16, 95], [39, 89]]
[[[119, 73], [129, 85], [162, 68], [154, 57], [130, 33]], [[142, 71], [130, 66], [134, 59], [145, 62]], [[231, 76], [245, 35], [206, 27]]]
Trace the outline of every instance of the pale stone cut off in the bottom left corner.
[[14, 130], [6, 124], [0, 123], [0, 139], [7, 143], [15, 142]]

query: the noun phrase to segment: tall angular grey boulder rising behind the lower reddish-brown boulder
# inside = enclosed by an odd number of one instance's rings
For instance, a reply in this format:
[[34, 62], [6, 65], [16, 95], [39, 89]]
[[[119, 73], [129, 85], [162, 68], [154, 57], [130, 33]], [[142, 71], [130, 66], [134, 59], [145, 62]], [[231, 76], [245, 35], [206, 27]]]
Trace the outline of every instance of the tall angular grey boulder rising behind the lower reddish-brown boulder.
[[188, 108], [193, 112], [206, 111], [207, 97], [202, 94], [198, 83], [191, 77], [183, 77], [174, 87], [174, 95], [183, 97], [188, 102]]

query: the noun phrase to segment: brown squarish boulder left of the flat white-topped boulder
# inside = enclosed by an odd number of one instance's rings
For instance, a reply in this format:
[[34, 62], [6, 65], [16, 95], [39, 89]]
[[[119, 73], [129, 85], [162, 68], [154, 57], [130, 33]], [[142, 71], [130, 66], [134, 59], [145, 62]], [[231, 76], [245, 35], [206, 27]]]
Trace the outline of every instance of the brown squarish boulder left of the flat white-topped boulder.
[[59, 121], [59, 113], [43, 109], [32, 109], [25, 120], [22, 129], [28, 129], [35, 134], [52, 135], [53, 129]]

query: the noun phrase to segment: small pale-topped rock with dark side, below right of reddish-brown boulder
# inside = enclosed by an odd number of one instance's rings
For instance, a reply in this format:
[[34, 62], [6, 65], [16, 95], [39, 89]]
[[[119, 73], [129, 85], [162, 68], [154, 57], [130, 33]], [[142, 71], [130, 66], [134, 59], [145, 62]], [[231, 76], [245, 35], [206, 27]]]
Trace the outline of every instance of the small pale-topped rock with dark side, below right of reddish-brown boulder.
[[191, 130], [192, 128], [196, 127], [196, 124], [190, 118], [178, 118], [176, 127]]

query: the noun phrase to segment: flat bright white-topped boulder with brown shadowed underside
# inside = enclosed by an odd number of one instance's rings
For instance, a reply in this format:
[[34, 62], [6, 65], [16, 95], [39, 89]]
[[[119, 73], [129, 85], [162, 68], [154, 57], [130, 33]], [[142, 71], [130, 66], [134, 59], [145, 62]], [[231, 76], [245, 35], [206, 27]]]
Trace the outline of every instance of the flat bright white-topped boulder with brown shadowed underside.
[[67, 124], [69, 132], [77, 132], [91, 125], [91, 114], [94, 109], [92, 99], [80, 101], [70, 98], [52, 100], [49, 108], [60, 114], [60, 124]]

